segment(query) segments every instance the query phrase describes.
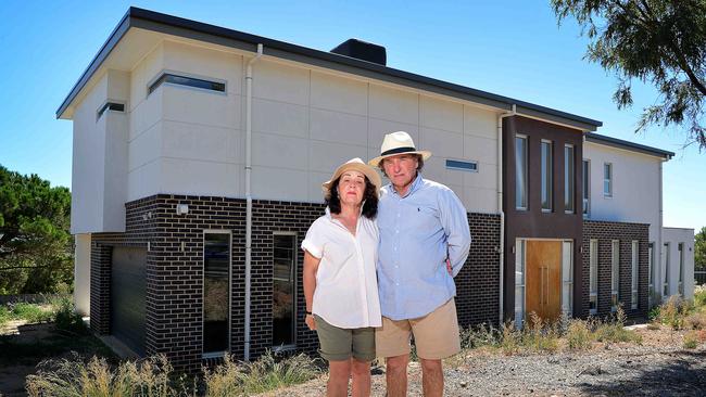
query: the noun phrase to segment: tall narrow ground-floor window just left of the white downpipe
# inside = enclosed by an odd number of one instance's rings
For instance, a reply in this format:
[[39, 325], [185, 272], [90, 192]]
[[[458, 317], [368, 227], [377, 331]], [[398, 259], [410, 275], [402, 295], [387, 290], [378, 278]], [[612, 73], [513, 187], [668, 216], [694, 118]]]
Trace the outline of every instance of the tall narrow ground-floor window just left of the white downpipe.
[[203, 355], [229, 348], [230, 233], [205, 232], [203, 242]]

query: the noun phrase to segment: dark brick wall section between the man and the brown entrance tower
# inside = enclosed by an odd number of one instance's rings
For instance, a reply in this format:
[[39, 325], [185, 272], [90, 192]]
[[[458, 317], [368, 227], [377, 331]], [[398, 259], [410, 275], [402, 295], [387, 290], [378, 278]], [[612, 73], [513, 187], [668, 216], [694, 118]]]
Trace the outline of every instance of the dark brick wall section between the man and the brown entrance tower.
[[497, 324], [500, 310], [500, 216], [468, 214], [472, 242], [455, 278], [456, 311], [462, 326]]

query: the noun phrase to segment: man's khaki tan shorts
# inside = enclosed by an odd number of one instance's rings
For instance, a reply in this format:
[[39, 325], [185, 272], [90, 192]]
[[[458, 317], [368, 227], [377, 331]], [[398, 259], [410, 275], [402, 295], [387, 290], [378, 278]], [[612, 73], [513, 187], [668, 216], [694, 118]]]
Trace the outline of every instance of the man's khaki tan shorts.
[[438, 360], [461, 351], [454, 298], [418, 319], [394, 321], [382, 317], [382, 328], [375, 330], [377, 356], [395, 357], [408, 354], [412, 335], [417, 356], [420, 358]]

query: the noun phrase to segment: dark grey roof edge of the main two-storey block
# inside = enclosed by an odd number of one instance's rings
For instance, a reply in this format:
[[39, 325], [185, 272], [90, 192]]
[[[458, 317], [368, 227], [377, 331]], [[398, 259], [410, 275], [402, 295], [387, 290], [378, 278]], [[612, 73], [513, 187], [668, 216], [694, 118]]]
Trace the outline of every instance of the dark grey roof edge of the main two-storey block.
[[595, 131], [597, 127], [603, 125], [602, 121], [591, 118], [416, 75], [376, 63], [134, 7], [128, 9], [125, 16], [123, 16], [111, 36], [99, 50], [98, 54], [93, 57], [78, 81], [74, 85], [68, 95], [66, 95], [62, 104], [59, 106], [56, 110], [58, 118], [62, 117], [66, 108], [72, 104], [79, 92], [88, 84], [89, 79], [97, 73], [101, 64], [110, 55], [111, 51], [117, 47], [121, 39], [133, 27], [218, 43], [251, 52], [255, 52], [257, 44], [262, 43], [265, 55], [288, 59], [291, 61], [390, 81], [402, 86], [459, 98], [500, 110], [510, 111], [513, 105], [515, 105], [517, 113], [520, 115], [564, 124], [584, 131]]

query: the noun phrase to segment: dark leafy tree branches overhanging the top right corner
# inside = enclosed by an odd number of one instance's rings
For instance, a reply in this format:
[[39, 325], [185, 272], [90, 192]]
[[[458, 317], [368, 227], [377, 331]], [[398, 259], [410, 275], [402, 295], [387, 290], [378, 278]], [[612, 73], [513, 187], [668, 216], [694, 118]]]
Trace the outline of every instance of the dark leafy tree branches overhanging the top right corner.
[[659, 98], [635, 132], [670, 124], [706, 149], [706, 0], [552, 0], [558, 23], [572, 16], [591, 42], [584, 59], [618, 77], [618, 108], [632, 105], [631, 82], [651, 82]]

